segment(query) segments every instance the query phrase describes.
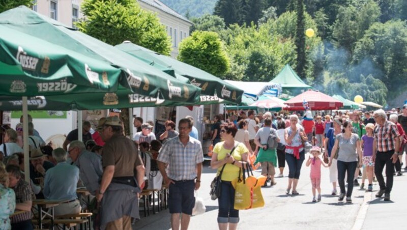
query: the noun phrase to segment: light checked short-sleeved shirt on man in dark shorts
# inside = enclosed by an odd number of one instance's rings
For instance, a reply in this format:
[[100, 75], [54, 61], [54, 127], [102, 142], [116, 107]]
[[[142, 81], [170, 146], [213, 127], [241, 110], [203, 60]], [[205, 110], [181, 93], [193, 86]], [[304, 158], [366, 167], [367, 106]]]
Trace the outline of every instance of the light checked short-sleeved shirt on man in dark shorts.
[[189, 137], [187, 145], [184, 146], [179, 137], [168, 139], [157, 160], [169, 164], [168, 178], [171, 180], [193, 180], [197, 176], [196, 164], [203, 162], [200, 141]]

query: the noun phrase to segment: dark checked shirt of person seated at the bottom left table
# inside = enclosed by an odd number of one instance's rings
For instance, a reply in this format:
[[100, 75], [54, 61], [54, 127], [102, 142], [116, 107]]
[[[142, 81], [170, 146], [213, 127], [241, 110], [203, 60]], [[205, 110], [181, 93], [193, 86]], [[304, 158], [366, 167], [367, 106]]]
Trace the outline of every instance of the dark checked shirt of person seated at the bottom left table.
[[[31, 190], [30, 184], [25, 182], [22, 178], [20, 178], [13, 190], [16, 194], [16, 204], [33, 200], [33, 191]], [[23, 212], [21, 214], [10, 217], [10, 220], [11, 223], [19, 223], [25, 220], [31, 220], [31, 218], [31, 212]]]

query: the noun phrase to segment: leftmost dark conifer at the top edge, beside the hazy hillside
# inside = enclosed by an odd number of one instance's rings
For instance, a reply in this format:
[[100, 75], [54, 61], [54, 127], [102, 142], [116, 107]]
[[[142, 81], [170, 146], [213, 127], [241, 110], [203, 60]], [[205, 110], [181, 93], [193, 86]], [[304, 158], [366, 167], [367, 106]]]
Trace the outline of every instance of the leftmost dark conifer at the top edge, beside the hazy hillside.
[[215, 5], [214, 15], [225, 20], [226, 25], [243, 22], [241, 0], [218, 0]]

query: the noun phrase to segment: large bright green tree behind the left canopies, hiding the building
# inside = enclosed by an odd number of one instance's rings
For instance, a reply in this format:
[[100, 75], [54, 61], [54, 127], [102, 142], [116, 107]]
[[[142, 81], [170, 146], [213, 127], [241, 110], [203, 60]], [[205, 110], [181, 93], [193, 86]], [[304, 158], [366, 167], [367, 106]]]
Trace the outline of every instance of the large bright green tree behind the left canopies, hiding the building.
[[171, 40], [153, 13], [144, 11], [132, 0], [85, 0], [84, 20], [76, 23], [80, 31], [111, 45], [123, 41], [168, 55]]

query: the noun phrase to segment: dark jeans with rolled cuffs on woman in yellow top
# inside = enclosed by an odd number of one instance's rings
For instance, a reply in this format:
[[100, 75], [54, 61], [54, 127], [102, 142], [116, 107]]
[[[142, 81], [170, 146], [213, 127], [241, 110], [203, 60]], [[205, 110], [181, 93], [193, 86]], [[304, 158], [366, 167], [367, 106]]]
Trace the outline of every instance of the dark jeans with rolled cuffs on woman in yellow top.
[[235, 189], [230, 181], [222, 181], [218, 197], [218, 223], [238, 223], [239, 210], [235, 207]]

